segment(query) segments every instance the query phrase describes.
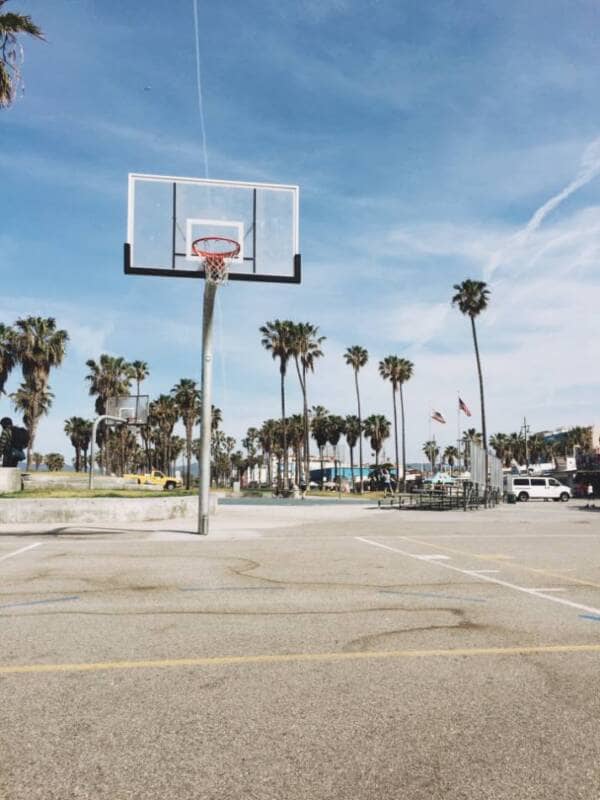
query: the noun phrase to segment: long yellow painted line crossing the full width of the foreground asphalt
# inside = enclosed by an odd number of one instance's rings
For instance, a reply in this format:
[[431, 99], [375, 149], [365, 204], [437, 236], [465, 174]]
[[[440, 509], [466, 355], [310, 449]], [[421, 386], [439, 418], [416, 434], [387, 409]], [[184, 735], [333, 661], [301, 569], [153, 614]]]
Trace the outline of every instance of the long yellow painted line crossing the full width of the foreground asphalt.
[[356, 653], [281, 653], [256, 656], [164, 658], [147, 661], [98, 661], [88, 664], [22, 664], [0, 667], [0, 675], [41, 672], [99, 672], [101, 670], [222, 667], [246, 664], [327, 663], [403, 658], [457, 658], [469, 656], [528, 656], [549, 653], [600, 653], [600, 644], [548, 644], [516, 647], [455, 647], [435, 650], [367, 650]]

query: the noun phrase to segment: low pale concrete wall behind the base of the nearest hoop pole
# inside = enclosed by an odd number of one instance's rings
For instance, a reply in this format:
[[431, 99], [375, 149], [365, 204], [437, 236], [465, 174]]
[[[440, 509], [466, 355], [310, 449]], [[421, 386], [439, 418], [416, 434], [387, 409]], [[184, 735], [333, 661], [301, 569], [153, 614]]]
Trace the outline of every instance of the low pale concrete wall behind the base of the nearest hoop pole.
[[[217, 496], [209, 512], [216, 513]], [[0, 524], [21, 522], [150, 522], [196, 517], [198, 497], [0, 498]]]

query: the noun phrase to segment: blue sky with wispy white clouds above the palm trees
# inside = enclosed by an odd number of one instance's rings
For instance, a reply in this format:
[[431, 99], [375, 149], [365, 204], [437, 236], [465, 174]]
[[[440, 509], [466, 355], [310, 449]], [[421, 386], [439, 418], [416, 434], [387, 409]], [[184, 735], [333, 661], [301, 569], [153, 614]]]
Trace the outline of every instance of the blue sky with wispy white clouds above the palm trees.
[[[127, 174], [204, 174], [193, 0], [9, 7], [48, 41], [24, 42], [25, 93], [0, 112], [0, 319], [52, 315], [69, 330], [36, 447], [70, 457], [63, 421], [93, 408], [86, 359], [148, 361], [154, 395], [199, 379], [201, 284], [122, 274]], [[532, 430], [597, 421], [597, 3], [198, 10], [209, 175], [301, 189], [303, 284], [219, 293], [224, 429], [241, 438], [278, 415], [258, 327], [279, 317], [327, 336], [311, 403], [354, 412], [342, 354], [361, 344], [364, 409], [391, 418], [377, 363], [405, 356], [409, 459], [421, 458], [431, 408], [450, 444], [457, 391], [478, 409], [468, 322], [449, 305], [466, 277], [492, 291], [479, 325], [490, 433], [517, 430], [523, 415]], [[291, 411], [296, 383], [290, 374]]]

